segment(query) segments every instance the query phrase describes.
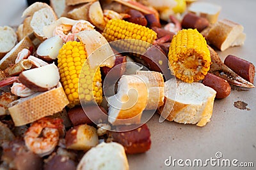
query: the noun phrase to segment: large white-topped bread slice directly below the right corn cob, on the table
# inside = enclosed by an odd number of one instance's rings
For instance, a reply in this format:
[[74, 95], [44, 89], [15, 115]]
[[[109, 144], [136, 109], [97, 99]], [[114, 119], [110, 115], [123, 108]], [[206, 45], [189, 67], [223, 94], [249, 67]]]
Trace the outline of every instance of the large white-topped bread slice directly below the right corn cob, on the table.
[[182, 124], [207, 124], [212, 116], [216, 91], [193, 82], [170, 79], [164, 83], [164, 105], [157, 113], [169, 121]]

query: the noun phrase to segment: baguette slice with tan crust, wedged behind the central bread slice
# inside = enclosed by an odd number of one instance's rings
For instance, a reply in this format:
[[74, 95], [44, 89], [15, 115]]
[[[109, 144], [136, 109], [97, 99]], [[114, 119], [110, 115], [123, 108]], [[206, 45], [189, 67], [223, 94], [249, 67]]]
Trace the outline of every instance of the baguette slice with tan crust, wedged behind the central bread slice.
[[145, 110], [156, 110], [164, 104], [164, 78], [163, 74], [157, 71], [137, 71], [136, 75], [140, 76], [147, 83], [148, 103]]

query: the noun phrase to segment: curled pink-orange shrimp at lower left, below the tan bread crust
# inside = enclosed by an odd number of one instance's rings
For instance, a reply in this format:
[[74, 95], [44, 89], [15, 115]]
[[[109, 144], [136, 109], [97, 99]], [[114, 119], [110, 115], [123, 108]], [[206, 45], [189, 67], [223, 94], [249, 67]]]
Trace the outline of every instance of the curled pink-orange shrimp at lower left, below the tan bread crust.
[[58, 145], [64, 129], [60, 118], [41, 118], [34, 122], [24, 136], [26, 146], [40, 157], [49, 155]]

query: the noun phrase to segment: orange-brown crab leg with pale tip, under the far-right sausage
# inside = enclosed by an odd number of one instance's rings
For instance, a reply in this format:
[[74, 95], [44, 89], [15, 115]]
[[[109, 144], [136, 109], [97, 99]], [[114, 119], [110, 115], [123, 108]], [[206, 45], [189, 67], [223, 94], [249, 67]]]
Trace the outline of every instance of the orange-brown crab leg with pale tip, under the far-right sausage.
[[220, 59], [218, 53], [216, 53], [210, 46], [208, 46], [210, 53], [211, 53], [211, 67], [209, 72], [216, 74], [221, 78], [224, 78], [228, 81], [228, 83], [240, 87], [247, 87], [247, 88], [254, 88], [255, 86], [250, 83], [249, 81], [244, 80], [236, 74], [232, 69], [226, 66]]

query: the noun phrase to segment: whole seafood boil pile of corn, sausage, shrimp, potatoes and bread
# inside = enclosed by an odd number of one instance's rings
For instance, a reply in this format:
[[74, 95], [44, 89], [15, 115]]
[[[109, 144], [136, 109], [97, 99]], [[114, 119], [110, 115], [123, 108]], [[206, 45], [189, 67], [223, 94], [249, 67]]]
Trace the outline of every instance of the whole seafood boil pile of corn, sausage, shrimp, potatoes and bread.
[[17, 27], [1, 25], [0, 169], [129, 169], [128, 155], [154, 143], [153, 115], [214, 124], [215, 101], [255, 88], [252, 62], [218, 54], [246, 41], [221, 10], [196, 0], [51, 0], [29, 5]]

